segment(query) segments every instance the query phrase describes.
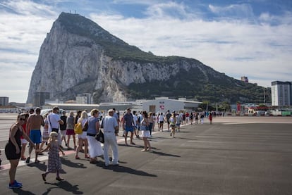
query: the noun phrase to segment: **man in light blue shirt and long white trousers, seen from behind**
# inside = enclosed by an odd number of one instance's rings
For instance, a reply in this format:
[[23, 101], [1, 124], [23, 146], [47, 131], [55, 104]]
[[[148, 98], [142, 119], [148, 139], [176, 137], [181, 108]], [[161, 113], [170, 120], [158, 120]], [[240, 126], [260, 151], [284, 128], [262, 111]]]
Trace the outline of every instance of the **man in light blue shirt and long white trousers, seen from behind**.
[[112, 165], [118, 165], [118, 143], [116, 134], [118, 134], [118, 121], [114, 118], [114, 110], [110, 109], [103, 120], [104, 125], [104, 165], [109, 166], [109, 147], [111, 146]]

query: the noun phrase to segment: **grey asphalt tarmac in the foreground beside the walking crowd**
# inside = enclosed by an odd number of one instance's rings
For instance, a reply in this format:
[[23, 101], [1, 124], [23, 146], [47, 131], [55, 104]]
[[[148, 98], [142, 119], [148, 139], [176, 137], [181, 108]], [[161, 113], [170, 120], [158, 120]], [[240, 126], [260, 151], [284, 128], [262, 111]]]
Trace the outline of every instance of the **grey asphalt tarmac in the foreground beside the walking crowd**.
[[43, 160], [18, 166], [22, 189], [8, 189], [8, 169], [0, 170], [0, 194], [292, 194], [291, 127], [291, 117], [217, 117], [185, 125], [175, 138], [154, 132], [152, 153], [141, 152], [142, 140], [119, 140], [119, 166], [110, 167], [66, 151], [64, 181], [54, 173], [42, 181]]

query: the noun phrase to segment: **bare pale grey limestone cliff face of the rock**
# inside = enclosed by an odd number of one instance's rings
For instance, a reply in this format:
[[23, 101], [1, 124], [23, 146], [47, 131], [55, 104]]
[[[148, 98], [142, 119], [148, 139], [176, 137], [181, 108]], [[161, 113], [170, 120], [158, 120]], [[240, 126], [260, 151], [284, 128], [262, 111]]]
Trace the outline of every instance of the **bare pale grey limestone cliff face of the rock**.
[[52, 99], [65, 101], [79, 93], [95, 94], [97, 101], [126, 101], [124, 87], [130, 83], [168, 80], [193, 66], [197, 65], [114, 60], [95, 40], [69, 32], [58, 19], [41, 46], [27, 102], [32, 103], [35, 92], [49, 92]]

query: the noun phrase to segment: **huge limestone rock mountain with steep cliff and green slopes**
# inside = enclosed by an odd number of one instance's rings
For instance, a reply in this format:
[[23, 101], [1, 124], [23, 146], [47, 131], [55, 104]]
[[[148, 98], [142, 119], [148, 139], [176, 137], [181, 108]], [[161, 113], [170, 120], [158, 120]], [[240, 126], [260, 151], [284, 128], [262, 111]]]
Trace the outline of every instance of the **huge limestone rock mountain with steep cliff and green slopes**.
[[[154, 56], [78, 14], [61, 13], [39, 51], [27, 103], [35, 92], [63, 101], [91, 93], [95, 103], [187, 97], [262, 102], [264, 87], [218, 73], [193, 58]], [[266, 89], [269, 101], [270, 89]]]

